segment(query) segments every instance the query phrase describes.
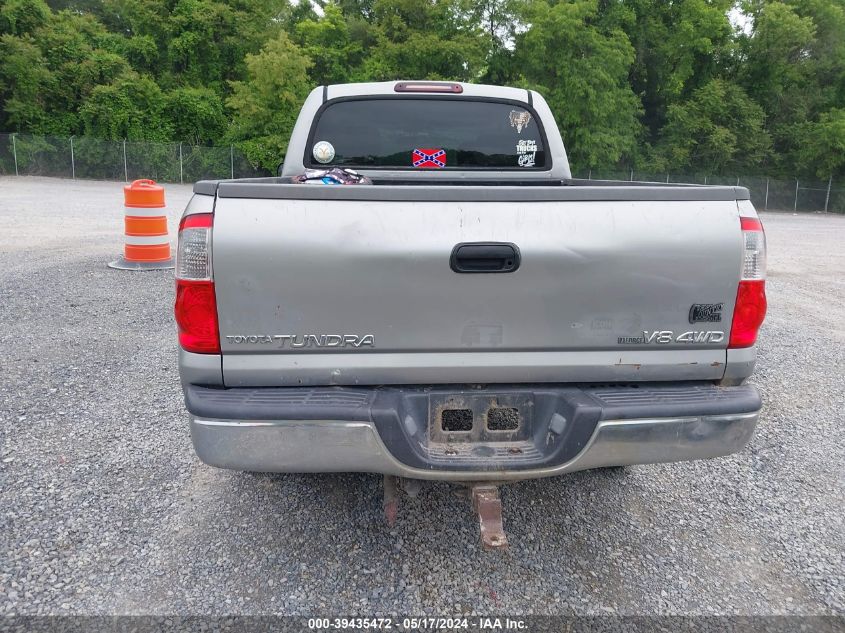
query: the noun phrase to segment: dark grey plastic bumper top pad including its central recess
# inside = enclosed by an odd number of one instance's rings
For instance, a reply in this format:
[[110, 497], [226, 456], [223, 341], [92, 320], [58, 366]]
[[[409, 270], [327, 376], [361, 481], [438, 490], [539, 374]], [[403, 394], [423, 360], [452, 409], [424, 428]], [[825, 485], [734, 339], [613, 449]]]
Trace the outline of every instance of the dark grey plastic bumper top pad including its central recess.
[[751, 386], [710, 383], [254, 389], [188, 385], [185, 401], [194, 417], [208, 420], [365, 422], [376, 428], [379, 441], [402, 464], [467, 473], [560, 466], [587, 446], [603, 421], [694, 419], [754, 413], [761, 406]]

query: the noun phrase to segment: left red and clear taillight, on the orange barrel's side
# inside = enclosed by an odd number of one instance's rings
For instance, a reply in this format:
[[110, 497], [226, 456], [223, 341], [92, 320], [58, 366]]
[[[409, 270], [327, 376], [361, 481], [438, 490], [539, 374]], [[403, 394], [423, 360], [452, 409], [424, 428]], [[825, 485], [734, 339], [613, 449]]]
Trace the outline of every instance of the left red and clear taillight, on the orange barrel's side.
[[188, 352], [219, 354], [217, 299], [211, 268], [214, 216], [198, 213], [182, 218], [176, 249], [176, 325], [179, 345]]

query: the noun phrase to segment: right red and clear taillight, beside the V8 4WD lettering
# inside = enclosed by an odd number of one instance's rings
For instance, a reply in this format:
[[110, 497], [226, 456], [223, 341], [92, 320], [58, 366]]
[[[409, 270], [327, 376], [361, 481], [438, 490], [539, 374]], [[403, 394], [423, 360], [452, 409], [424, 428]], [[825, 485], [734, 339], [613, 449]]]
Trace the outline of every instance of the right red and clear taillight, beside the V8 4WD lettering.
[[766, 317], [766, 235], [757, 218], [741, 217], [743, 259], [728, 347], [751, 347]]

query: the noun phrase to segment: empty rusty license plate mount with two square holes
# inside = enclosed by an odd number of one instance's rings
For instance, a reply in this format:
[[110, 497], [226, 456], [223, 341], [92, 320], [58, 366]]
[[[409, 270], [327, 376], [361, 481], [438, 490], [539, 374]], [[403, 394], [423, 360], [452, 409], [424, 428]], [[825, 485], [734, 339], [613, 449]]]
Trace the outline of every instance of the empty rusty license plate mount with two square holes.
[[533, 435], [533, 412], [530, 394], [432, 394], [429, 397], [429, 442], [525, 442]]

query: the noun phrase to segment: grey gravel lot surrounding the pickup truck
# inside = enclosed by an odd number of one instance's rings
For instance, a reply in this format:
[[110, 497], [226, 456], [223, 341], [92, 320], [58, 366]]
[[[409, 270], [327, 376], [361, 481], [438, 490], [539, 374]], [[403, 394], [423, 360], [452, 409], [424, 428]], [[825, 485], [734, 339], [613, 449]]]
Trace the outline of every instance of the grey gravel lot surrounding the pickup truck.
[[[171, 230], [190, 196], [168, 186]], [[726, 458], [503, 489], [201, 464], [172, 272], [106, 268], [118, 183], [0, 178], [0, 613], [845, 613], [845, 217], [768, 214], [765, 410]]]

